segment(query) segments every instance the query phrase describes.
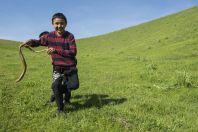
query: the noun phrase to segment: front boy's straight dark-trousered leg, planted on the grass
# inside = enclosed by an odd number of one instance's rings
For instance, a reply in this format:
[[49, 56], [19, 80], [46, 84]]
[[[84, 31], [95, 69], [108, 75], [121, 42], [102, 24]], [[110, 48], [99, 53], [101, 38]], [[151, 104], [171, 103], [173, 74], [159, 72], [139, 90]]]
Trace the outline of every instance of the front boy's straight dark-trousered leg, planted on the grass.
[[62, 77], [61, 74], [57, 71], [54, 71], [53, 73], [53, 83], [52, 83], [52, 87], [53, 87], [53, 92], [54, 92], [54, 96], [56, 99], [56, 104], [58, 106], [58, 111], [63, 111], [63, 93], [62, 93]]

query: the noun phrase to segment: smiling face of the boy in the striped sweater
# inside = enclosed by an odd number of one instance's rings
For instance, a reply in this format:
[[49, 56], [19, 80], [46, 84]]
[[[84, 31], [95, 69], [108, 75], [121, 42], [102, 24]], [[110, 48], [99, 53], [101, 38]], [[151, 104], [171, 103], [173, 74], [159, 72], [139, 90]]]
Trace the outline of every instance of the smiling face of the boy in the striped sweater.
[[56, 30], [56, 32], [59, 35], [62, 35], [64, 33], [65, 27], [66, 27], [65, 20], [61, 19], [61, 18], [55, 18], [53, 20], [53, 26], [54, 26], [54, 29]]

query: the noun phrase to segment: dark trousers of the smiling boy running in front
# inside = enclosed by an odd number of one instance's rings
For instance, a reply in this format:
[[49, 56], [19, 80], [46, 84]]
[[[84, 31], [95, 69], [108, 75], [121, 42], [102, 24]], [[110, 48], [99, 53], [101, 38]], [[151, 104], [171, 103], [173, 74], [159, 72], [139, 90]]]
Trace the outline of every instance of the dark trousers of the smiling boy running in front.
[[77, 69], [54, 66], [53, 67], [53, 83], [52, 89], [54, 92], [55, 100], [58, 106], [58, 110], [63, 110], [63, 94], [65, 94], [65, 100], [69, 100], [71, 97], [71, 90], [79, 87], [79, 80]]

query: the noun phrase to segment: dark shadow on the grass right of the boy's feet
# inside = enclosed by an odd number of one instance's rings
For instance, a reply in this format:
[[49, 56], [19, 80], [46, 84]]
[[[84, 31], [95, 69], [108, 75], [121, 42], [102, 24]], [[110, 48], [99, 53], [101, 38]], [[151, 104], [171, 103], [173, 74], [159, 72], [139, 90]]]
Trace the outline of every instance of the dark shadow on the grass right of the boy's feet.
[[77, 111], [81, 109], [87, 109], [96, 107], [98, 109], [105, 105], [118, 105], [125, 102], [126, 98], [109, 98], [105, 94], [91, 94], [91, 95], [76, 95], [72, 97], [72, 101], [67, 111]]

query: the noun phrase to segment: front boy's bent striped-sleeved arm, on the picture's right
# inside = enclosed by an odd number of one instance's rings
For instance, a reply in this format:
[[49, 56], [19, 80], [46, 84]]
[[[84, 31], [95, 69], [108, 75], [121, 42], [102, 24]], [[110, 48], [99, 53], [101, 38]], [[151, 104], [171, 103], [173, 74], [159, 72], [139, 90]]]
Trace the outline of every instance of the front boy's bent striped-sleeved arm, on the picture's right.
[[76, 56], [77, 54], [77, 48], [76, 48], [76, 42], [75, 42], [75, 38], [73, 35], [69, 36], [69, 50], [60, 50], [60, 49], [56, 49], [56, 52], [61, 55], [61, 56]]

